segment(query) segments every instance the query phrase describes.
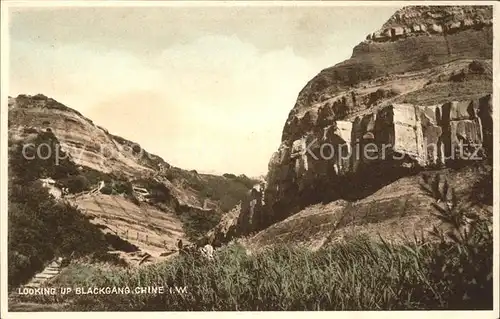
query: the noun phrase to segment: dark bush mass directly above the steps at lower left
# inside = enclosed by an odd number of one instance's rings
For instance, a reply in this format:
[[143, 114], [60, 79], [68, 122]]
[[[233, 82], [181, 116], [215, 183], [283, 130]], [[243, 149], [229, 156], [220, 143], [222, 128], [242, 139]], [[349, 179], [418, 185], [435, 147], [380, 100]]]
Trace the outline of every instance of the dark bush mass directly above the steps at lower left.
[[106, 250], [103, 233], [77, 208], [56, 202], [36, 182], [9, 185], [9, 288], [26, 282], [55, 256]]

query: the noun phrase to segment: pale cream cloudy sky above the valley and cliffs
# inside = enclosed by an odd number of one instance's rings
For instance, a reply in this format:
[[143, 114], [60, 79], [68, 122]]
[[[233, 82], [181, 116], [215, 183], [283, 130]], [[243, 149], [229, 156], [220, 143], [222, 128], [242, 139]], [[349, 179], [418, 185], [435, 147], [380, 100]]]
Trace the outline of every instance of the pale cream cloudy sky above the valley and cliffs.
[[397, 9], [11, 9], [9, 95], [52, 97], [174, 166], [262, 175], [299, 91]]

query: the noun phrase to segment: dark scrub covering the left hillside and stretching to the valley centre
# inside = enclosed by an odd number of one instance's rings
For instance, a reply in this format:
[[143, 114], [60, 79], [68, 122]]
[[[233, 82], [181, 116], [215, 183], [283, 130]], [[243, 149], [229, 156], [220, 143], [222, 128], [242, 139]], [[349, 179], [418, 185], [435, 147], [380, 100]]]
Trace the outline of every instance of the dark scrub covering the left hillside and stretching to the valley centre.
[[[70, 193], [91, 190], [99, 181], [105, 181], [102, 193], [123, 195], [136, 205], [140, 202], [134, 195], [132, 183], [147, 187], [151, 204], [175, 211], [191, 240], [197, 240], [214, 227], [221, 214], [236, 205], [253, 185], [253, 181], [244, 176], [202, 176], [177, 169], [178, 176], [171, 176], [172, 180], [184, 179], [189, 187], [197, 190], [200, 199], [208, 197], [221, 203], [220, 210], [213, 212], [185, 209], [164, 184], [152, 178], [131, 181], [117, 174], [78, 167], [66, 157], [52, 132], [33, 133], [29, 142], [34, 147], [23, 150], [22, 141], [9, 144], [9, 287], [25, 283], [56, 256], [91, 256], [95, 260], [120, 262], [107, 254], [109, 249], [118, 249], [113, 243], [120, 241], [104, 235], [75, 206], [49, 195], [40, 178], [53, 178], [56, 186], [67, 187]], [[41, 145], [48, 147], [40, 148]], [[50, 156], [44, 153], [49, 148]], [[41, 153], [37, 154], [37, 150]]]

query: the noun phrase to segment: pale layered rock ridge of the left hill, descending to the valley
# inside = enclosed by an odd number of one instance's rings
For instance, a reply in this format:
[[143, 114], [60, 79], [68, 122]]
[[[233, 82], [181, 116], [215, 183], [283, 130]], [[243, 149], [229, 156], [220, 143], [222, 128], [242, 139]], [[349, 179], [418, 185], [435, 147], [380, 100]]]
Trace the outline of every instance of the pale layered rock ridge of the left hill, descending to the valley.
[[88, 167], [123, 180], [154, 179], [168, 189], [171, 195], [168, 203], [174, 209], [201, 213], [211, 213], [215, 209], [202, 208], [202, 196], [186, 187], [184, 178], [171, 178], [172, 181], [167, 178], [195, 173], [172, 167], [139, 144], [109, 133], [52, 98], [42, 94], [9, 97], [8, 116], [11, 142], [28, 143], [40, 132], [50, 130], [60, 142], [62, 151], [80, 168]]

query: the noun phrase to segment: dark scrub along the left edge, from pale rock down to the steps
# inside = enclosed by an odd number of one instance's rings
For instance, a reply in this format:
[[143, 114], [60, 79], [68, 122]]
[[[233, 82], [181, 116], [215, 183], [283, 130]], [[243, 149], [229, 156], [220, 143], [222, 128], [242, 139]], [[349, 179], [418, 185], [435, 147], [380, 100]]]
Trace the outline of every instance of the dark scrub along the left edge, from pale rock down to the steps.
[[[92, 260], [119, 262], [107, 255], [109, 245], [104, 234], [76, 207], [57, 202], [38, 181], [42, 177], [55, 177], [71, 180], [72, 188], [85, 186], [85, 181], [78, 181], [78, 169], [69, 159], [60, 159], [56, 165], [54, 152], [46, 159], [32, 158], [33, 154], [28, 153], [42, 144], [55, 150], [59, 147], [55, 136], [42, 133], [33, 144], [35, 147], [25, 153], [28, 156], [23, 156], [20, 145], [9, 152], [9, 288], [26, 282], [56, 256], [87, 255]], [[59, 156], [65, 154], [61, 151]]]

